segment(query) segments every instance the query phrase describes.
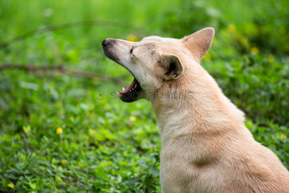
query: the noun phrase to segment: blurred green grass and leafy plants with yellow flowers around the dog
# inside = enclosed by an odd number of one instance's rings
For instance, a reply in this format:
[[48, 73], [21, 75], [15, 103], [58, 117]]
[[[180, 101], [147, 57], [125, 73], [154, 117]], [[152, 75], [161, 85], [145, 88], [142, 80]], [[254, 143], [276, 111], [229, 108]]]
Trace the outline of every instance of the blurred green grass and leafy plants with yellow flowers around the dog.
[[110, 100], [133, 76], [101, 41], [204, 27], [201, 65], [288, 167], [288, 0], [0, 0], [0, 192], [160, 192], [151, 104]]

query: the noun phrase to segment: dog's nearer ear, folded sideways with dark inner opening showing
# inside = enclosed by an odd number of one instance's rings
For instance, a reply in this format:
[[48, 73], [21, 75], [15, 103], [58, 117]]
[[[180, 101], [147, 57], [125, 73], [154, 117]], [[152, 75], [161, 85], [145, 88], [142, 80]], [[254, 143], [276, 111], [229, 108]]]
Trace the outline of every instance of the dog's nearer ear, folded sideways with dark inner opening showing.
[[175, 54], [163, 53], [161, 56], [161, 65], [164, 68], [164, 79], [166, 80], [179, 78], [184, 71], [181, 60]]

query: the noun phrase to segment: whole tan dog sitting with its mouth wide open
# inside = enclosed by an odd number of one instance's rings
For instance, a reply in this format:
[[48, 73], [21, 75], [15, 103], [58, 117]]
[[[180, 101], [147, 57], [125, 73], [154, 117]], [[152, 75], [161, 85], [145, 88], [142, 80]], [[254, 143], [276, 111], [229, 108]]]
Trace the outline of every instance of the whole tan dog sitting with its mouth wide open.
[[151, 101], [162, 192], [289, 192], [286, 168], [253, 139], [244, 113], [199, 64], [213, 37], [209, 27], [182, 39], [102, 42], [105, 55], [135, 77], [121, 99]]

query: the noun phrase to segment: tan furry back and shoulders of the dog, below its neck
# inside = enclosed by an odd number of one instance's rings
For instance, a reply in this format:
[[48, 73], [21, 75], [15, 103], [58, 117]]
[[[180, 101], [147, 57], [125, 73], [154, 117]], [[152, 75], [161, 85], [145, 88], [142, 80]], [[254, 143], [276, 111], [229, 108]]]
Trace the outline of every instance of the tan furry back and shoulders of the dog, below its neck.
[[235, 131], [182, 135], [161, 152], [163, 192], [289, 192], [277, 156]]

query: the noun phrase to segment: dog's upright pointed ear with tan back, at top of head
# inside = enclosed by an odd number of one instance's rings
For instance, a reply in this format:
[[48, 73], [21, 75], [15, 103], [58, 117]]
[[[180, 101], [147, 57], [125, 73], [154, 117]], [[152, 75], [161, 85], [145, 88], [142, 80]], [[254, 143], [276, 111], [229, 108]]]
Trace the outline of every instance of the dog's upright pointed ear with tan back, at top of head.
[[209, 48], [211, 47], [215, 30], [212, 27], [206, 27], [199, 30], [189, 36], [182, 38], [182, 41], [196, 57], [197, 62], [207, 54]]

